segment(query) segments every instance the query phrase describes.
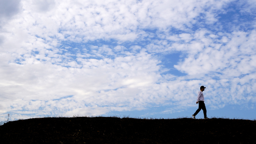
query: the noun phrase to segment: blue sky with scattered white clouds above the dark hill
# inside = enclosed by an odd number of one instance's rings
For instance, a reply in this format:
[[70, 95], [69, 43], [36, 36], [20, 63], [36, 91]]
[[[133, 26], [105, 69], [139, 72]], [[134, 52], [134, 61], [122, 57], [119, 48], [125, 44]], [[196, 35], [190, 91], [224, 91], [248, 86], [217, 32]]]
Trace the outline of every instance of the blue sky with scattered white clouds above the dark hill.
[[[1, 0], [0, 120], [256, 119], [253, 0]], [[203, 118], [202, 111], [196, 116]]]

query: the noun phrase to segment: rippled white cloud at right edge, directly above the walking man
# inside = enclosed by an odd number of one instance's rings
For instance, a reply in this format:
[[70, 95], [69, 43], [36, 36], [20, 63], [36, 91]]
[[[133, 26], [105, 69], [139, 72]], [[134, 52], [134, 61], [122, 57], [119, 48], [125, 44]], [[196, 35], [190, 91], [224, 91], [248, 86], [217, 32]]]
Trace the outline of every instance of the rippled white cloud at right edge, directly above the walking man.
[[[255, 71], [252, 65], [252, 58], [256, 54], [253, 39], [255, 31], [234, 32], [231, 39], [222, 46], [211, 38], [205, 37], [203, 41], [198, 39], [201, 41], [198, 43], [202, 43], [204, 48], [197, 53], [190, 53], [184, 61], [174, 67], [190, 75], [218, 72], [229, 77], [249, 74]], [[188, 48], [196, 50], [192, 46], [188, 45]]]

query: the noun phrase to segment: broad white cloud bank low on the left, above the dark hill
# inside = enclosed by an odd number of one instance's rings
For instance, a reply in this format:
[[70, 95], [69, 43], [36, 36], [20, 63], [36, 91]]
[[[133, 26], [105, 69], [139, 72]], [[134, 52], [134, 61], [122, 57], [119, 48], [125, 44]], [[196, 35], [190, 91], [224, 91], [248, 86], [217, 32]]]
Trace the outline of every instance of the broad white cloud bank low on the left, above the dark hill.
[[[14, 103], [9, 101], [9, 107], [3, 112], [15, 110], [19, 113], [33, 109], [35, 114], [42, 114], [47, 109], [52, 111], [58, 108], [59, 113], [65, 114], [65, 111], [76, 111], [84, 105], [129, 105], [130, 108], [136, 108], [140, 103], [130, 102], [135, 101], [134, 98], [142, 88], [149, 87], [160, 77], [157, 66], [159, 62], [151, 59], [143, 50], [135, 56], [117, 57], [113, 60], [84, 59], [81, 63], [83, 68], [33, 62], [6, 65], [5, 71], [1, 71], [1, 90], [9, 98], [2, 98], [4, 101], [20, 100]], [[18, 91], [13, 92], [12, 89]], [[73, 95], [71, 102], [64, 101], [61, 104], [60, 100], [60, 104], [56, 105], [54, 99], [66, 95]], [[45, 101], [48, 101], [47, 104]], [[54, 103], [49, 103], [51, 101]], [[68, 109], [65, 107], [67, 102], [71, 104]], [[37, 103], [42, 108], [36, 106]]]

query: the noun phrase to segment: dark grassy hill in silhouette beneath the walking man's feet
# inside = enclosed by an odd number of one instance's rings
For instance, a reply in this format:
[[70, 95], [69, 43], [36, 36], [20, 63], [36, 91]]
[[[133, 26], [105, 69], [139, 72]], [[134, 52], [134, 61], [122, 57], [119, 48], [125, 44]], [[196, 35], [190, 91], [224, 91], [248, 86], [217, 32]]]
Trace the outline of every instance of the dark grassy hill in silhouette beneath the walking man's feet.
[[57, 117], [0, 126], [1, 144], [256, 144], [256, 120]]

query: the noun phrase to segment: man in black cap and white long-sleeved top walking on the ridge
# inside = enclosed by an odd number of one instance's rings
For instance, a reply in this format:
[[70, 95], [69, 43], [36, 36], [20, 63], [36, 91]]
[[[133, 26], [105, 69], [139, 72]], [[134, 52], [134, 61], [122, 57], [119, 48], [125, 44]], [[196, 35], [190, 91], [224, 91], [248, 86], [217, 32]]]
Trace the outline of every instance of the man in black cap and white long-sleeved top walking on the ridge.
[[199, 111], [202, 109], [204, 111], [204, 119], [208, 119], [208, 117], [206, 116], [206, 108], [205, 108], [205, 104], [204, 104], [204, 94], [202, 93], [204, 91], [205, 87], [201, 86], [200, 87], [200, 91], [198, 92], [198, 96], [197, 96], [197, 100], [196, 100], [196, 104], [199, 103], [198, 109], [196, 110], [196, 112], [194, 114], [192, 114], [192, 117], [194, 119], [196, 114], [199, 113]]

